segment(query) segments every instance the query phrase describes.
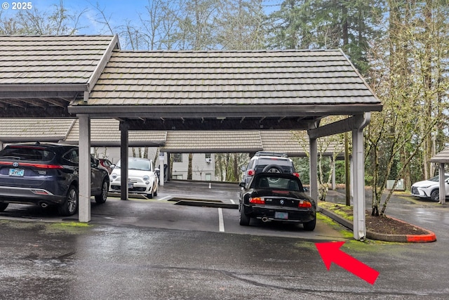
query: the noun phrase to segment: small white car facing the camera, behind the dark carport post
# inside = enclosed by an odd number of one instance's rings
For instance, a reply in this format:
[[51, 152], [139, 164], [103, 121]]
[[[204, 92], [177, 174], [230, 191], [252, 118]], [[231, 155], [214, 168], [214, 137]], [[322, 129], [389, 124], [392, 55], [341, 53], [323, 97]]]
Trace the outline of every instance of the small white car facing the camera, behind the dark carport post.
[[[109, 191], [120, 192], [121, 188], [121, 161], [117, 162], [110, 175]], [[159, 175], [153, 167], [151, 159], [130, 157], [128, 159], [128, 191], [133, 194], [144, 194], [149, 199], [157, 196], [159, 188]]]

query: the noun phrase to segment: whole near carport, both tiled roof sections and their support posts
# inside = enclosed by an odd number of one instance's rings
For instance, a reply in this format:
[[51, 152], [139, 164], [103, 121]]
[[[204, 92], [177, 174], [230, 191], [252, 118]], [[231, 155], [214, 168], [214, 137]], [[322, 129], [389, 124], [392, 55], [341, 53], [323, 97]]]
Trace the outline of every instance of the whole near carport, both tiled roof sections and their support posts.
[[[95, 45], [92, 57], [77, 52]], [[307, 130], [315, 199], [317, 138], [351, 131], [354, 237], [366, 236], [363, 128], [382, 104], [340, 50], [120, 51], [116, 37], [1, 37], [0, 61], [0, 117], [79, 118], [81, 222], [91, 218], [91, 119], [112, 118], [123, 162], [129, 131]], [[344, 119], [320, 126], [331, 115]]]

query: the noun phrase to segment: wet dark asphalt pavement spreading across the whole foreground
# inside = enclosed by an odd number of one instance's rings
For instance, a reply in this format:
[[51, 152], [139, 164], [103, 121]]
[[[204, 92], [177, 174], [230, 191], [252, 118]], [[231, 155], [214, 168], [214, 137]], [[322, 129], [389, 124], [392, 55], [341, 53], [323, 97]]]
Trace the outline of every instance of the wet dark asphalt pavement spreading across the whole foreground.
[[[221, 209], [221, 231], [219, 209], [162, 200], [176, 190], [182, 197], [203, 191], [227, 200], [236, 193], [232, 187], [215, 194], [208, 186], [167, 185], [154, 200], [93, 202], [88, 225], [51, 211], [39, 216], [25, 207], [7, 209], [0, 214], [0, 299], [449, 298], [447, 233], [438, 236], [448, 229], [447, 207], [402, 198], [389, 204], [391, 216], [438, 229], [437, 242], [357, 242], [323, 220], [318, 236], [267, 224], [236, 232], [232, 224], [242, 227], [236, 209]], [[152, 214], [145, 216], [144, 207]], [[112, 214], [117, 211], [123, 216]], [[374, 285], [335, 264], [326, 269], [314, 243], [335, 239], [380, 272]]]

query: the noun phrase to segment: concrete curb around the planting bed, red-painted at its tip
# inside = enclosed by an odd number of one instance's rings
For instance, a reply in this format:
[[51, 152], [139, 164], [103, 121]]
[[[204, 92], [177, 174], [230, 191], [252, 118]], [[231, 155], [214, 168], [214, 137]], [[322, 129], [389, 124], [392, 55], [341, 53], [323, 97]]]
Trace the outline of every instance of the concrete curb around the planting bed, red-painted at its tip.
[[[337, 223], [342, 224], [342, 226], [348, 228], [349, 230], [354, 230], [353, 223], [351, 221], [348, 221], [347, 219], [344, 219], [342, 216], [339, 216], [337, 214], [334, 214], [332, 211], [325, 209], [323, 207], [318, 207], [318, 211], [321, 212], [321, 214], [324, 214], [325, 216], [328, 216], [330, 219], [333, 219]], [[406, 223], [404, 221], [391, 218], [396, 221]], [[366, 237], [370, 240], [382, 240], [384, 242], [435, 242], [436, 241], [436, 235], [435, 233], [432, 233], [430, 230], [421, 228], [419, 226], [415, 226], [416, 228], [420, 228], [421, 230], [427, 232], [425, 235], [387, 235], [384, 233], [375, 233], [373, 231], [367, 230], [366, 231]]]

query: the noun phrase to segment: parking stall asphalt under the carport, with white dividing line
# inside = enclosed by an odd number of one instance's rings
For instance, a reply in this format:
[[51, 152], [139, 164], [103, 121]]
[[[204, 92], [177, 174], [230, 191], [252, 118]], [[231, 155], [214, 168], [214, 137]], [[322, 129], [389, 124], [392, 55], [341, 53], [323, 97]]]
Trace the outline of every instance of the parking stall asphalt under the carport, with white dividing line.
[[[118, 196], [118, 195], [116, 195]], [[156, 197], [130, 195], [128, 201], [109, 195], [105, 204], [91, 202], [91, 223], [111, 226], [136, 226], [177, 230], [300, 237], [308, 240], [344, 240], [328, 223], [317, 222], [314, 231], [300, 224], [263, 223], [252, 220], [239, 225], [239, 186], [229, 183], [170, 181], [160, 187]], [[77, 221], [78, 215], [61, 218], [55, 209], [10, 204], [0, 213], [3, 219], [38, 221]]]

